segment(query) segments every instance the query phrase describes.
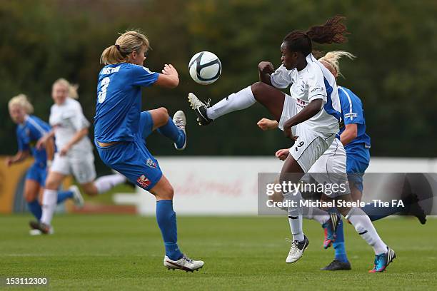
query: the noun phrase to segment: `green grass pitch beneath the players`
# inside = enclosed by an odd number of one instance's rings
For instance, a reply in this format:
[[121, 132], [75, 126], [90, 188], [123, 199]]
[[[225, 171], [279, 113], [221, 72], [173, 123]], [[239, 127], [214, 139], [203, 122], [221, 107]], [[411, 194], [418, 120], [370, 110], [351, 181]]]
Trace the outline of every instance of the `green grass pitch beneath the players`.
[[[346, 223], [351, 271], [319, 270], [321, 227], [304, 220], [310, 245], [286, 264], [288, 221], [280, 217], [178, 218], [183, 252], [205, 261], [200, 272], [169, 271], [155, 218], [57, 215], [55, 234], [28, 235], [28, 215], [0, 216], [0, 277], [49, 277], [55, 290], [437, 290], [437, 220], [375, 223], [398, 257], [387, 272], [369, 274], [373, 251]], [[0, 287], [0, 288], [4, 288]], [[31, 290], [29, 287], [11, 290]], [[44, 290], [39, 287], [38, 290]]]

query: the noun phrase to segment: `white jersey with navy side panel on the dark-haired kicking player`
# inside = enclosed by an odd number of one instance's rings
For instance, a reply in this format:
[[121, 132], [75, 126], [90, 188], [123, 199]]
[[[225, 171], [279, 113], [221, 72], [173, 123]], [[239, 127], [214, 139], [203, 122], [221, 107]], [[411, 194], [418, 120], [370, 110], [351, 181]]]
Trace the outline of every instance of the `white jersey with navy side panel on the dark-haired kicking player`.
[[338, 133], [341, 118], [340, 99], [336, 79], [313, 55], [306, 56], [308, 63], [303, 70], [287, 70], [283, 65], [271, 74], [271, 84], [276, 88], [290, 87], [291, 97], [296, 99], [296, 111], [316, 99], [322, 99], [321, 111], [304, 121], [313, 131], [321, 133]]

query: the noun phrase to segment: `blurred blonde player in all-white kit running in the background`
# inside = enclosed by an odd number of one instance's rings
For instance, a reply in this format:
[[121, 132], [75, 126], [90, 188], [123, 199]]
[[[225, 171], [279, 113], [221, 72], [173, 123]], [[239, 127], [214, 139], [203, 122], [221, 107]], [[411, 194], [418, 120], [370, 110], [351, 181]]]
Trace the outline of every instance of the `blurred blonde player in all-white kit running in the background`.
[[42, 147], [54, 137], [58, 152], [46, 178], [43, 194], [43, 211], [39, 222], [32, 228], [47, 234], [52, 232], [51, 219], [56, 208], [56, 190], [67, 175], [74, 175], [76, 181], [88, 195], [94, 196], [126, 182], [121, 174], [105, 175], [96, 179], [94, 154], [89, 140], [89, 121], [86, 120], [78, 98], [76, 87], [63, 78], [55, 81], [51, 92], [54, 105], [51, 106], [49, 123], [52, 130], [42, 137], [37, 147]]

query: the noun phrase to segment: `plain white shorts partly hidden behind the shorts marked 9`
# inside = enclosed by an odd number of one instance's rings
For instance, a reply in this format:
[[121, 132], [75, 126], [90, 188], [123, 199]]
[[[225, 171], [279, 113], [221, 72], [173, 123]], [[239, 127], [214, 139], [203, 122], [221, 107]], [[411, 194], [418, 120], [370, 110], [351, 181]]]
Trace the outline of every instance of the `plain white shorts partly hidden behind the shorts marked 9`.
[[324, 193], [330, 198], [351, 193], [346, 174], [346, 150], [338, 138], [334, 138], [331, 146], [316, 160], [308, 173], [318, 184], [328, 185]]

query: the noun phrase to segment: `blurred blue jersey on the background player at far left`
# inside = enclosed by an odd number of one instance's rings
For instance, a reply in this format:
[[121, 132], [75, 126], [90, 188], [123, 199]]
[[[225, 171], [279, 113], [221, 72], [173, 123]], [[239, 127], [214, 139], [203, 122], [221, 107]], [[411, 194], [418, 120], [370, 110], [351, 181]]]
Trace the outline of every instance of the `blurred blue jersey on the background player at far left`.
[[43, 137], [49, 131], [49, 124], [41, 121], [41, 119], [36, 116], [26, 116], [24, 123], [16, 127], [19, 151], [31, 150], [35, 163], [43, 163], [46, 165], [46, 150], [44, 148], [37, 150], [35, 146], [39, 138]]

